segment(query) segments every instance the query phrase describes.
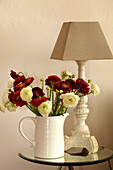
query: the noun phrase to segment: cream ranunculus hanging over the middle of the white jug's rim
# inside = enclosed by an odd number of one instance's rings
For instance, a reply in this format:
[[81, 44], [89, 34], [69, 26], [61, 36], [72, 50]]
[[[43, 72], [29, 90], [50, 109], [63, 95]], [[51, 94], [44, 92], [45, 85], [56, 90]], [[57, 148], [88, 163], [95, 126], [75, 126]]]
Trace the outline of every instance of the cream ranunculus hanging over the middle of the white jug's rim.
[[41, 103], [41, 104], [38, 106], [39, 113], [40, 113], [43, 117], [48, 117], [49, 113], [51, 112], [51, 109], [52, 109], [52, 103], [51, 103], [49, 100]]

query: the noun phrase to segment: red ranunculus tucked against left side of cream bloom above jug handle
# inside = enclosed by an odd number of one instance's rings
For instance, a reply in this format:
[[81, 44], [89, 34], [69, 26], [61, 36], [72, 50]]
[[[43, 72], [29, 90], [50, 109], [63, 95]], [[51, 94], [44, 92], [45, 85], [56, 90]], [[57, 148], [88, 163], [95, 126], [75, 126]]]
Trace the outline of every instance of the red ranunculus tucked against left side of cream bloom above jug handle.
[[16, 106], [24, 106], [26, 105], [26, 102], [23, 101], [20, 97], [20, 91], [17, 91], [13, 96], [13, 103], [16, 104]]

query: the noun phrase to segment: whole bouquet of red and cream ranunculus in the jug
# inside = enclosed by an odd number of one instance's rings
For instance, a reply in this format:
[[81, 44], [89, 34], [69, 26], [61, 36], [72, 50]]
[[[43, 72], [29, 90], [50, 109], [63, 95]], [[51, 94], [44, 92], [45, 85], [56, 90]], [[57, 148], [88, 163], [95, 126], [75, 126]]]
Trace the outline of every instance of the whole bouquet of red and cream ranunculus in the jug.
[[[8, 89], [4, 92], [0, 111], [16, 111], [17, 107], [26, 106], [37, 116], [59, 116], [67, 112], [69, 107], [75, 107], [81, 97], [100, 93], [98, 85], [91, 84], [91, 80], [78, 78], [63, 71], [61, 78], [50, 75], [47, 79], [41, 78], [42, 87], [33, 87], [33, 77], [26, 78], [22, 72], [11, 70]], [[44, 93], [46, 86], [46, 95]]]

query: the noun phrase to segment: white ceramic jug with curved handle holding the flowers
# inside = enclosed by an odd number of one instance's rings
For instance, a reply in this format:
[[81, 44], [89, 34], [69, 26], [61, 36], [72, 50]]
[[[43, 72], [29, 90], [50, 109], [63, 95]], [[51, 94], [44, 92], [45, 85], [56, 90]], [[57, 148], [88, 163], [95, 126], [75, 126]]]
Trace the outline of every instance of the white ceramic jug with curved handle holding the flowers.
[[[34, 147], [34, 156], [39, 158], [59, 158], [64, 156], [64, 121], [68, 116], [52, 117], [25, 117], [19, 123], [19, 130], [22, 136]], [[22, 124], [26, 119], [35, 123], [34, 140], [30, 140], [23, 132]]]

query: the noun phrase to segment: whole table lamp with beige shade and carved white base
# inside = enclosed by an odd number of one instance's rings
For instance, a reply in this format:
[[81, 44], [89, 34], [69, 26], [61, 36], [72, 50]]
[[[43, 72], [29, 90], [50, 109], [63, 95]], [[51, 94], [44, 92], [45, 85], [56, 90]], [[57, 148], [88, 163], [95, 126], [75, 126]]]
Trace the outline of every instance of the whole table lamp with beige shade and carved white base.
[[[76, 61], [78, 78], [85, 80], [87, 60], [113, 59], [113, 56], [98, 22], [66, 22], [63, 23], [51, 59]], [[87, 96], [82, 97], [74, 109], [77, 123], [71, 136], [65, 136], [65, 150], [85, 147], [89, 153], [98, 151], [97, 139], [91, 136], [85, 123], [89, 113], [87, 101]]]

